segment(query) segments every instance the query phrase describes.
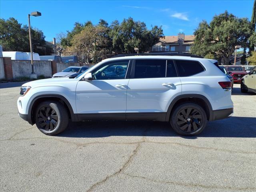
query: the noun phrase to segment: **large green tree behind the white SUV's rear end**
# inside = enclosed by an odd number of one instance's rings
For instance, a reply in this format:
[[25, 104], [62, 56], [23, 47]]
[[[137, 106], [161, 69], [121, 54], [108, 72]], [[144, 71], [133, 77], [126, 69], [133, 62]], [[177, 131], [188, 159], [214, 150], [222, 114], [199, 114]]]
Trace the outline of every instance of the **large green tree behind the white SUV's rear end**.
[[221, 58], [222, 64], [227, 65], [236, 45], [248, 47], [248, 38], [252, 32], [252, 25], [247, 18], [237, 18], [225, 11], [214, 16], [210, 24], [200, 22], [194, 32], [196, 38], [191, 52], [201, 56], [215, 53]]

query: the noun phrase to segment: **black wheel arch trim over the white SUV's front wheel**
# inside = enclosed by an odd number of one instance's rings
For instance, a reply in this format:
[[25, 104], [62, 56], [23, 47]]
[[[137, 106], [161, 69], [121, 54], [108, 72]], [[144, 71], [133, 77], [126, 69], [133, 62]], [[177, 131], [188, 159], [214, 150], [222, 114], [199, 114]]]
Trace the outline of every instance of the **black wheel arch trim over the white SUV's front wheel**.
[[55, 101], [61, 102], [67, 108], [69, 118], [72, 121], [78, 121], [77, 115], [74, 114], [74, 111], [73, 111], [73, 108], [72, 108], [70, 102], [64, 96], [59, 95], [59, 94], [44, 94], [44, 95], [36, 96], [30, 103], [30, 106], [28, 108], [28, 122], [30, 124], [32, 124], [32, 125], [35, 124], [34, 110], [36, 109], [36, 106], [40, 102], [43, 102], [46, 100], [55, 100]]

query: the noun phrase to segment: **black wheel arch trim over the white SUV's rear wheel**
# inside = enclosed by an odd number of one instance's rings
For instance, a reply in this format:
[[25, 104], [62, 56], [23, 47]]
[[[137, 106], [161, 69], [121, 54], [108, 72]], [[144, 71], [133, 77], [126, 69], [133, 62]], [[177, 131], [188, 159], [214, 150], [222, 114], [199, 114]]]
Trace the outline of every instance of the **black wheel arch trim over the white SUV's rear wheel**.
[[176, 98], [174, 98], [174, 100], [172, 100], [166, 112], [166, 121], [170, 120], [170, 115], [172, 111], [175, 109], [175, 107], [178, 104], [181, 104], [183, 102], [194, 102], [200, 105], [206, 111], [207, 120], [209, 121], [212, 120], [212, 116], [213, 116], [212, 105], [210, 104], [210, 101], [205, 96], [200, 94], [184, 94], [184, 95], [179, 95]]

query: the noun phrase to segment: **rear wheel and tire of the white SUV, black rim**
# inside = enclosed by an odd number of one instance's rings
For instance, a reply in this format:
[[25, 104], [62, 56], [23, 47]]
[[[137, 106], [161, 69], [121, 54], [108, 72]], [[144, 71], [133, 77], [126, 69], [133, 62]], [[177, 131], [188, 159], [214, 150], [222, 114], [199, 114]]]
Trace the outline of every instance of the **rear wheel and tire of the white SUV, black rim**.
[[178, 134], [194, 136], [200, 134], [206, 127], [206, 112], [196, 103], [182, 103], [171, 113], [170, 124]]

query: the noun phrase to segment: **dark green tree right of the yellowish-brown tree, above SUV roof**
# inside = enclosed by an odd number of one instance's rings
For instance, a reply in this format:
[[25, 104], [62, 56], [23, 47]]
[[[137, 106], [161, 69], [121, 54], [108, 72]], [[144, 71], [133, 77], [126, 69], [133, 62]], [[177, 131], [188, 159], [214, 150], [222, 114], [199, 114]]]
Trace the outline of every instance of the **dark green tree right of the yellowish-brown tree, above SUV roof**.
[[163, 37], [161, 27], [154, 26], [148, 30], [144, 22], [134, 21], [132, 18], [124, 19], [121, 24], [114, 21], [110, 28], [110, 38], [116, 53], [135, 53], [134, 48], [146, 52]]

